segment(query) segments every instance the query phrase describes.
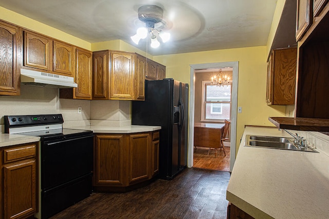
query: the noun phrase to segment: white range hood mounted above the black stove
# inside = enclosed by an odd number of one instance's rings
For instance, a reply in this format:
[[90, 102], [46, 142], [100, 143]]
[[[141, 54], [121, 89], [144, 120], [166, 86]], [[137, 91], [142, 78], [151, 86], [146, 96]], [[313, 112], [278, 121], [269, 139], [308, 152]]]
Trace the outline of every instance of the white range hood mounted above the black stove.
[[78, 87], [73, 77], [21, 68], [21, 83], [30, 86], [51, 88]]

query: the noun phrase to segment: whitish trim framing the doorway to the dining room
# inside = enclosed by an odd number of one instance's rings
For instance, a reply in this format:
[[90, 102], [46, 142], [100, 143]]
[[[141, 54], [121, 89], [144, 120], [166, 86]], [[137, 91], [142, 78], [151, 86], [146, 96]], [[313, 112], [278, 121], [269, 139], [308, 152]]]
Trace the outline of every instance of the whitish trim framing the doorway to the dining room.
[[237, 117], [237, 82], [239, 79], [239, 62], [217, 62], [190, 65], [190, 103], [189, 103], [189, 145], [188, 145], [188, 167], [193, 167], [193, 148], [194, 148], [194, 101], [195, 101], [195, 70], [209, 68], [233, 68], [232, 83], [232, 108], [231, 108], [231, 153], [230, 153], [230, 172], [232, 172], [235, 162], [236, 150], [236, 117]]

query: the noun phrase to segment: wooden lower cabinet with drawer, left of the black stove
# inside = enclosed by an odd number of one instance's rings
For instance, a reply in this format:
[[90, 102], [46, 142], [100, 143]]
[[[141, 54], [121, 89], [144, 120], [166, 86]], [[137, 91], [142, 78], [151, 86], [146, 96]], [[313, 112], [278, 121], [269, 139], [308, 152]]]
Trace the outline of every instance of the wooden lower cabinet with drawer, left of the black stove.
[[26, 218], [36, 212], [38, 142], [1, 149], [0, 178], [3, 209], [0, 218]]

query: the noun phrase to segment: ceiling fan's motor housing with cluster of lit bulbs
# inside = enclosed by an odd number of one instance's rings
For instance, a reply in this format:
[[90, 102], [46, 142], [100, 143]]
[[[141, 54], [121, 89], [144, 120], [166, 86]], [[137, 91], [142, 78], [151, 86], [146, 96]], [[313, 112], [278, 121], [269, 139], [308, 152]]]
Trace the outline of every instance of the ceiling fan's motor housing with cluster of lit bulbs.
[[154, 24], [162, 22], [163, 9], [156, 5], [144, 5], [138, 8], [138, 19], [145, 23], [145, 27], [137, 29], [136, 34], [131, 36], [134, 43], [138, 45], [141, 39], [147, 38], [150, 35], [151, 47], [157, 48], [160, 45], [158, 38], [162, 43], [170, 40], [170, 33], [163, 32], [154, 28]]

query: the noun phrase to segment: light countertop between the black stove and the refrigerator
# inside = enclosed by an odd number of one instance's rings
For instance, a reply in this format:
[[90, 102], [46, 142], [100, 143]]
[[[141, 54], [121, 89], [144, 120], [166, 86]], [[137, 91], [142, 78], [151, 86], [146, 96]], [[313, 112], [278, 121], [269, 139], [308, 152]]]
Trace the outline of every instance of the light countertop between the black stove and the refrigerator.
[[99, 126], [99, 125], [86, 125], [86, 126], [74, 126], [67, 127], [67, 129], [79, 129], [79, 130], [91, 130], [94, 133], [137, 133], [137, 132], [152, 132], [160, 130], [161, 126], [149, 126], [149, 125], [126, 125], [126, 126]]

